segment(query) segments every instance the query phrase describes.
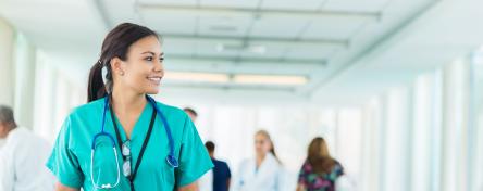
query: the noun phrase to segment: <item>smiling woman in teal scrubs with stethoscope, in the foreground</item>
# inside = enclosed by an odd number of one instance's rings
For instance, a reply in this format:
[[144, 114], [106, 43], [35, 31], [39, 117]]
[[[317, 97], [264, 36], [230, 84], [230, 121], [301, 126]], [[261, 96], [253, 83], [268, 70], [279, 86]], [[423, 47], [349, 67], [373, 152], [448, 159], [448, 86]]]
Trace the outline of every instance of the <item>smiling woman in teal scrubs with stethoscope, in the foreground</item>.
[[163, 60], [147, 27], [125, 23], [108, 34], [88, 103], [66, 117], [47, 162], [58, 191], [198, 190], [196, 180], [213, 165], [195, 125], [148, 96], [159, 91]]

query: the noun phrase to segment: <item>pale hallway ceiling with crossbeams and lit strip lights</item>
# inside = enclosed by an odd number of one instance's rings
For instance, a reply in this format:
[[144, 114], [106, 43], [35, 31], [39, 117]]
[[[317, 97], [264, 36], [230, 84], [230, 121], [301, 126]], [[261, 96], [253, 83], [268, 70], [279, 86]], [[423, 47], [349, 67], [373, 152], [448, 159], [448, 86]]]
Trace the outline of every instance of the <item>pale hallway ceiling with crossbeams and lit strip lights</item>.
[[[122, 22], [163, 37], [169, 72], [299, 76], [302, 85], [168, 80], [166, 86], [268, 89], [309, 97], [433, 0], [0, 0], [0, 15], [41, 50], [88, 68]], [[33, 16], [35, 15], [35, 16]], [[86, 69], [87, 71], [87, 69]]]

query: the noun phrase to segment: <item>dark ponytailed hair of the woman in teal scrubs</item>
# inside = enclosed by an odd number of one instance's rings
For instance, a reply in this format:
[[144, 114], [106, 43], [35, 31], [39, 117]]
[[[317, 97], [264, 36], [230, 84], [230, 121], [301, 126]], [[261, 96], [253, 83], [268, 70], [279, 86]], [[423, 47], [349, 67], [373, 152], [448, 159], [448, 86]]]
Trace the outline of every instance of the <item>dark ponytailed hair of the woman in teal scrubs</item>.
[[[106, 97], [107, 93], [112, 92], [113, 81], [110, 64], [111, 60], [114, 58], [119, 58], [123, 61], [127, 60], [129, 47], [139, 39], [148, 36], [159, 38], [158, 34], [153, 30], [132, 23], [120, 24], [109, 31], [102, 42], [100, 58], [90, 68], [87, 102], [100, 99]], [[102, 80], [102, 67], [107, 68], [106, 85]]]

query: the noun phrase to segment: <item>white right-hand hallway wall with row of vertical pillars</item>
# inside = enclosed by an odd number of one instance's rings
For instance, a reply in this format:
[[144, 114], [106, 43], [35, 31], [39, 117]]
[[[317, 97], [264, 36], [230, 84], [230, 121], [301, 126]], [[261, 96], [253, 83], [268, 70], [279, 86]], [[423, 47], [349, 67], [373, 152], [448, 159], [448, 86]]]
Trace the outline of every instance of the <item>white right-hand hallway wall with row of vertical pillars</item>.
[[470, 99], [470, 65], [466, 58], [457, 60], [368, 102], [362, 190], [481, 189], [475, 177], [481, 176], [483, 138], [481, 128], [471, 126], [481, 127], [481, 118], [470, 115], [470, 105], [481, 111], [482, 102]]

